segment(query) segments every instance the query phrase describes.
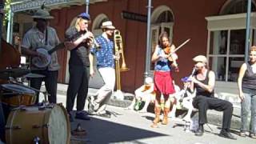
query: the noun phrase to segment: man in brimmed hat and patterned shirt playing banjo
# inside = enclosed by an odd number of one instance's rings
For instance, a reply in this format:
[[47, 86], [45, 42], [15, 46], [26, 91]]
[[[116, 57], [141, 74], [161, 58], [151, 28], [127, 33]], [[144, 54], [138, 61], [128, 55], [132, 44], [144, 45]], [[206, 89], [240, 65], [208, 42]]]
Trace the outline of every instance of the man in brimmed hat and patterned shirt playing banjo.
[[[40, 90], [42, 81], [44, 81], [46, 90], [50, 94], [48, 96], [49, 102], [56, 103], [58, 69], [60, 68], [57, 53], [52, 52], [49, 56], [50, 58], [46, 59], [46, 55], [37, 51], [38, 49], [52, 50], [60, 43], [56, 30], [48, 26], [49, 20], [53, 17], [50, 16], [48, 11], [40, 9], [34, 16], [32, 16], [32, 18], [34, 18], [36, 25], [28, 30], [24, 35], [24, 38], [22, 38], [22, 54], [26, 54], [27, 56], [30, 56], [30, 58], [35, 59], [35, 61], [30, 61], [31, 72], [34, 74], [42, 74], [45, 77], [31, 78], [30, 86]], [[42, 61], [41, 63], [50, 60], [50, 63], [47, 66], [40, 66], [40, 62], [39, 64], [35, 63], [39, 60]], [[36, 103], [38, 103], [38, 97]]]

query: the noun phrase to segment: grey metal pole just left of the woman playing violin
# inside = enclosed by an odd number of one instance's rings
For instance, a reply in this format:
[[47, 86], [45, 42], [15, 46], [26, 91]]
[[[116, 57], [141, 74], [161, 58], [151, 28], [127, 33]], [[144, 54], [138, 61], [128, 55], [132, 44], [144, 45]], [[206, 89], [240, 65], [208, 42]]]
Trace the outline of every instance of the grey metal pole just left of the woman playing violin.
[[148, 0], [147, 6], [147, 27], [146, 27], [146, 66], [144, 77], [148, 77], [150, 71], [150, 57], [151, 57], [151, 48], [150, 48], [150, 26], [151, 26], [151, 0]]

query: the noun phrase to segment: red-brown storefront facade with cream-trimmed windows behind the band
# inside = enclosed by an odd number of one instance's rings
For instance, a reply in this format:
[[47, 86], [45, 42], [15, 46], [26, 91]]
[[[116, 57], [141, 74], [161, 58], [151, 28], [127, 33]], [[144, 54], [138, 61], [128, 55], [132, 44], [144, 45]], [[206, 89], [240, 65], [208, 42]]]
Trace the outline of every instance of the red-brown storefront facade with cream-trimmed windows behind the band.
[[[71, 2], [71, 1], [70, 1]], [[78, 2], [78, 1], [72, 1]], [[71, 20], [86, 6], [82, 1], [78, 4], [57, 5], [59, 9], [51, 10], [54, 20], [50, 22], [63, 40], [64, 32]], [[126, 65], [129, 71], [121, 74], [122, 90], [133, 92], [142, 85], [146, 61], [146, 22], [136, 18], [123, 18], [124, 11], [134, 14], [147, 14], [147, 0], [95, 0], [90, 4], [92, 18], [90, 30], [95, 35], [101, 34], [101, 23], [109, 19], [121, 31], [123, 38]], [[216, 91], [237, 94], [236, 79], [238, 67], [245, 61], [246, 34], [246, 1], [245, 0], [215, 0], [215, 1], [186, 1], [162, 0], [152, 1], [151, 12], [151, 52], [158, 44], [158, 35], [162, 31], [170, 34], [170, 39], [176, 46], [191, 38], [185, 46], [178, 50], [178, 65], [180, 72], [174, 74], [176, 83], [181, 84], [180, 78], [190, 74], [193, 68], [192, 58], [205, 54], [210, 61], [210, 69], [217, 76]], [[255, 11], [253, 1], [252, 10]], [[56, 7], [55, 7], [56, 8]], [[15, 15], [15, 14], [14, 14]], [[251, 44], [254, 44], [255, 14], [251, 15]], [[15, 17], [14, 17], [15, 22]], [[27, 21], [26, 21], [27, 22]], [[25, 22], [25, 23], [26, 23]], [[20, 24], [20, 27], [26, 24]], [[60, 82], [68, 81], [68, 59], [66, 50], [58, 51], [59, 62], [62, 62]], [[154, 73], [154, 64], [150, 74]], [[228, 85], [227, 85], [228, 83]]]

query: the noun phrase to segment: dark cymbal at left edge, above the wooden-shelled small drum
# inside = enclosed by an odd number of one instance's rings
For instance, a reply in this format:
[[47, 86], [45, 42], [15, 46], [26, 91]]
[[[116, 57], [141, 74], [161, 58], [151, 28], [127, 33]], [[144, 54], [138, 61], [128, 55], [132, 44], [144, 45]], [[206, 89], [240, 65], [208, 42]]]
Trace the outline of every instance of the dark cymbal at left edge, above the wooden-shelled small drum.
[[18, 78], [29, 74], [30, 70], [22, 68], [8, 68], [0, 70], [0, 79], [9, 79], [9, 77]]

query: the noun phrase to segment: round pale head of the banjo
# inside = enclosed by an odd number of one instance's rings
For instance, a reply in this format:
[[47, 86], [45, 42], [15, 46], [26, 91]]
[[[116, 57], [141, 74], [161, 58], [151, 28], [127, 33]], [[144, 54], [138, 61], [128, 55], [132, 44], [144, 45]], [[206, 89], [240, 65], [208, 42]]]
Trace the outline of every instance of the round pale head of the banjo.
[[37, 50], [39, 54], [44, 55], [43, 58], [34, 57], [32, 58], [32, 63], [34, 66], [37, 66], [38, 68], [44, 68], [50, 64], [50, 54], [48, 54], [48, 50], [39, 48]]

